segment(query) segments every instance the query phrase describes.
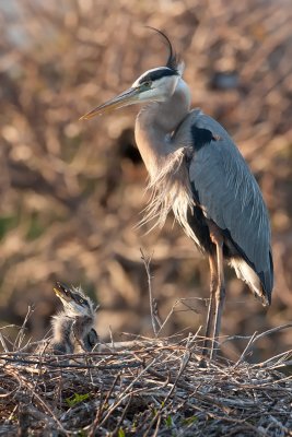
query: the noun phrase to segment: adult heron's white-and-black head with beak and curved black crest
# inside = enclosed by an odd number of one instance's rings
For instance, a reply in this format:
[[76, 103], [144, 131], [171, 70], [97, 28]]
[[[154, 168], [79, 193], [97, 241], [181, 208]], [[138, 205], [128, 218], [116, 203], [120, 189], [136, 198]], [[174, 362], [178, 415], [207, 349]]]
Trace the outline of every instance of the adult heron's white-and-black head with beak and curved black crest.
[[173, 95], [183, 75], [184, 62], [178, 61], [167, 36], [157, 29], [154, 31], [162, 35], [168, 45], [170, 56], [166, 66], [145, 71], [133, 82], [129, 90], [92, 109], [82, 116], [81, 120], [87, 120], [96, 115], [109, 113], [113, 109], [124, 106], [150, 102], [165, 102]]

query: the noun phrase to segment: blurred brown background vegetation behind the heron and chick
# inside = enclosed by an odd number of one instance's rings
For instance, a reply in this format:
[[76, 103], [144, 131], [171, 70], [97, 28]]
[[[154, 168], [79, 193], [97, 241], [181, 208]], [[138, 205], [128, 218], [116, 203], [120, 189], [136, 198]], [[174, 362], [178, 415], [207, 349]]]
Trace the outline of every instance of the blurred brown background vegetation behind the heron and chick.
[[[266, 312], [227, 270], [223, 334], [252, 334], [292, 314], [292, 5], [290, 0], [10, 0], [0, 2], [0, 318], [40, 339], [56, 280], [101, 304], [97, 330], [151, 333], [140, 247], [152, 255], [163, 334], [205, 322], [207, 260], [170, 216], [145, 235], [145, 169], [133, 140], [137, 107], [79, 117], [165, 61], [164, 31], [186, 62], [192, 104], [234, 137], [271, 216], [276, 286]], [[234, 358], [243, 345], [229, 343]], [[291, 346], [265, 339], [260, 357]], [[258, 357], [258, 356], [257, 356]], [[256, 358], [256, 357], [254, 357]]]

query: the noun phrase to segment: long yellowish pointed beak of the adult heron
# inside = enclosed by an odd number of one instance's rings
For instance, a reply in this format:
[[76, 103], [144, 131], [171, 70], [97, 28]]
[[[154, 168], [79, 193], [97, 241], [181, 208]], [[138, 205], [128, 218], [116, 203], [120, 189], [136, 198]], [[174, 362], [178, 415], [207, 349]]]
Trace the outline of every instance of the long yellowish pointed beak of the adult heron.
[[100, 105], [96, 108], [92, 109], [84, 116], [80, 117], [80, 120], [90, 120], [97, 115], [110, 113], [112, 110], [121, 108], [122, 106], [133, 105], [135, 103], [139, 102], [139, 94], [140, 91], [138, 87], [131, 87], [124, 93], [117, 95], [116, 97], [110, 98], [110, 101], [104, 103], [103, 105]]

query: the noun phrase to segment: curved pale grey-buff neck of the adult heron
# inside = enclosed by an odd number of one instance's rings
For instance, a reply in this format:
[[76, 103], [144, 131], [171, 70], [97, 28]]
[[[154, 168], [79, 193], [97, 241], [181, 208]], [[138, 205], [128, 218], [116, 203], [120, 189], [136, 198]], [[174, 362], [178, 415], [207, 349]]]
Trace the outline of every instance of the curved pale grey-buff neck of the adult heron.
[[174, 94], [164, 102], [145, 106], [136, 120], [135, 137], [150, 177], [154, 177], [167, 154], [174, 152], [171, 134], [190, 107], [190, 92], [179, 79]]

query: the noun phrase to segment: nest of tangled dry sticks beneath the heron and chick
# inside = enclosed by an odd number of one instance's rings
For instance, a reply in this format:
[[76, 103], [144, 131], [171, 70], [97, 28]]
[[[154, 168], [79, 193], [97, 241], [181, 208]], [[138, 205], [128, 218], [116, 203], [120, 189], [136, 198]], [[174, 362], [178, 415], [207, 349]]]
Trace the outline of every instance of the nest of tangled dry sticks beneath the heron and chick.
[[189, 334], [70, 356], [4, 352], [0, 435], [292, 436], [292, 351], [202, 366], [200, 347]]

